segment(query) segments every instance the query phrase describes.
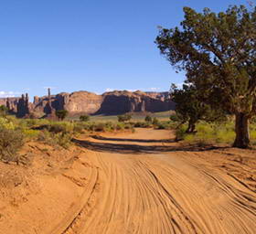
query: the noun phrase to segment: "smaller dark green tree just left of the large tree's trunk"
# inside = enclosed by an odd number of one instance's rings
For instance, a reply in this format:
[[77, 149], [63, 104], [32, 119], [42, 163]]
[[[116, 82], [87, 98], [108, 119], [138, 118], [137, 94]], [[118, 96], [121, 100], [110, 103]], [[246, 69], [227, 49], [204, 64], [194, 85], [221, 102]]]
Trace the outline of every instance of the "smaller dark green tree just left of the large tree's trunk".
[[172, 84], [170, 95], [176, 102], [176, 118], [181, 122], [188, 122], [187, 133], [194, 133], [196, 123], [199, 120], [213, 122], [225, 119], [225, 113], [221, 110], [212, 110], [208, 104], [201, 101], [196, 87], [184, 84], [183, 89], [177, 89]]

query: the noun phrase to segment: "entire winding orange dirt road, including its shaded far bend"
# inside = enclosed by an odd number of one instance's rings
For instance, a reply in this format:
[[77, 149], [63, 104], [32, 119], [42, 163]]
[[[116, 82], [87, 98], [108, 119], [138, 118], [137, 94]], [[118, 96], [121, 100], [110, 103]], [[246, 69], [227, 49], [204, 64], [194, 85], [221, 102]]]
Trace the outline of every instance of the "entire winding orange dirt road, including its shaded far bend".
[[93, 180], [48, 233], [256, 233], [255, 189], [216, 166], [211, 151], [181, 149], [170, 138], [139, 129], [77, 140]]

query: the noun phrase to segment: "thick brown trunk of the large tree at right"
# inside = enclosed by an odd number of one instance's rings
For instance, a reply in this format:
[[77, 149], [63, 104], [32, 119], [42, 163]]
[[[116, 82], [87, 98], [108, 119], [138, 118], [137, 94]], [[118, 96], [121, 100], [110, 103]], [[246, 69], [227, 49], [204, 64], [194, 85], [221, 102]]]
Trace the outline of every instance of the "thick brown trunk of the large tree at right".
[[245, 113], [236, 113], [236, 140], [234, 147], [248, 148], [250, 146], [249, 117]]

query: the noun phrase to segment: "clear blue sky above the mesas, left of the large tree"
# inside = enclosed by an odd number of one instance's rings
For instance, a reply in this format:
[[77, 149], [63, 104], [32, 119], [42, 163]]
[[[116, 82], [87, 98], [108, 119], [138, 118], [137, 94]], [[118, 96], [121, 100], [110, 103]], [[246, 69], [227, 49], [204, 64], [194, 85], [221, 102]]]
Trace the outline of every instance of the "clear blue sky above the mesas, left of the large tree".
[[183, 6], [225, 10], [246, 1], [7, 0], [0, 4], [0, 97], [89, 90], [168, 90], [181, 83], [154, 43]]

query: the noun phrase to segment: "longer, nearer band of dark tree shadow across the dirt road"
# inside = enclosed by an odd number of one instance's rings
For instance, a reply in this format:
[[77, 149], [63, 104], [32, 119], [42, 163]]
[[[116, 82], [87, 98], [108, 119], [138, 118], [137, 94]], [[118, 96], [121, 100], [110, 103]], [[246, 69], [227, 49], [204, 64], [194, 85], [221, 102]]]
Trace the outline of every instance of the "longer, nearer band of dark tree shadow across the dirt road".
[[[120, 139], [118, 139], [120, 140]], [[134, 140], [135, 141], [135, 140]], [[216, 146], [165, 146], [165, 145], [139, 145], [139, 144], [110, 144], [110, 143], [92, 143], [87, 140], [72, 139], [72, 142], [85, 147], [92, 151], [118, 153], [118, 154], [154, 154], [165, 153], [175, 151], [208, 151], [213, 149], [219, 149]], [[138, 140], [136, 140], [138, 142]]]

